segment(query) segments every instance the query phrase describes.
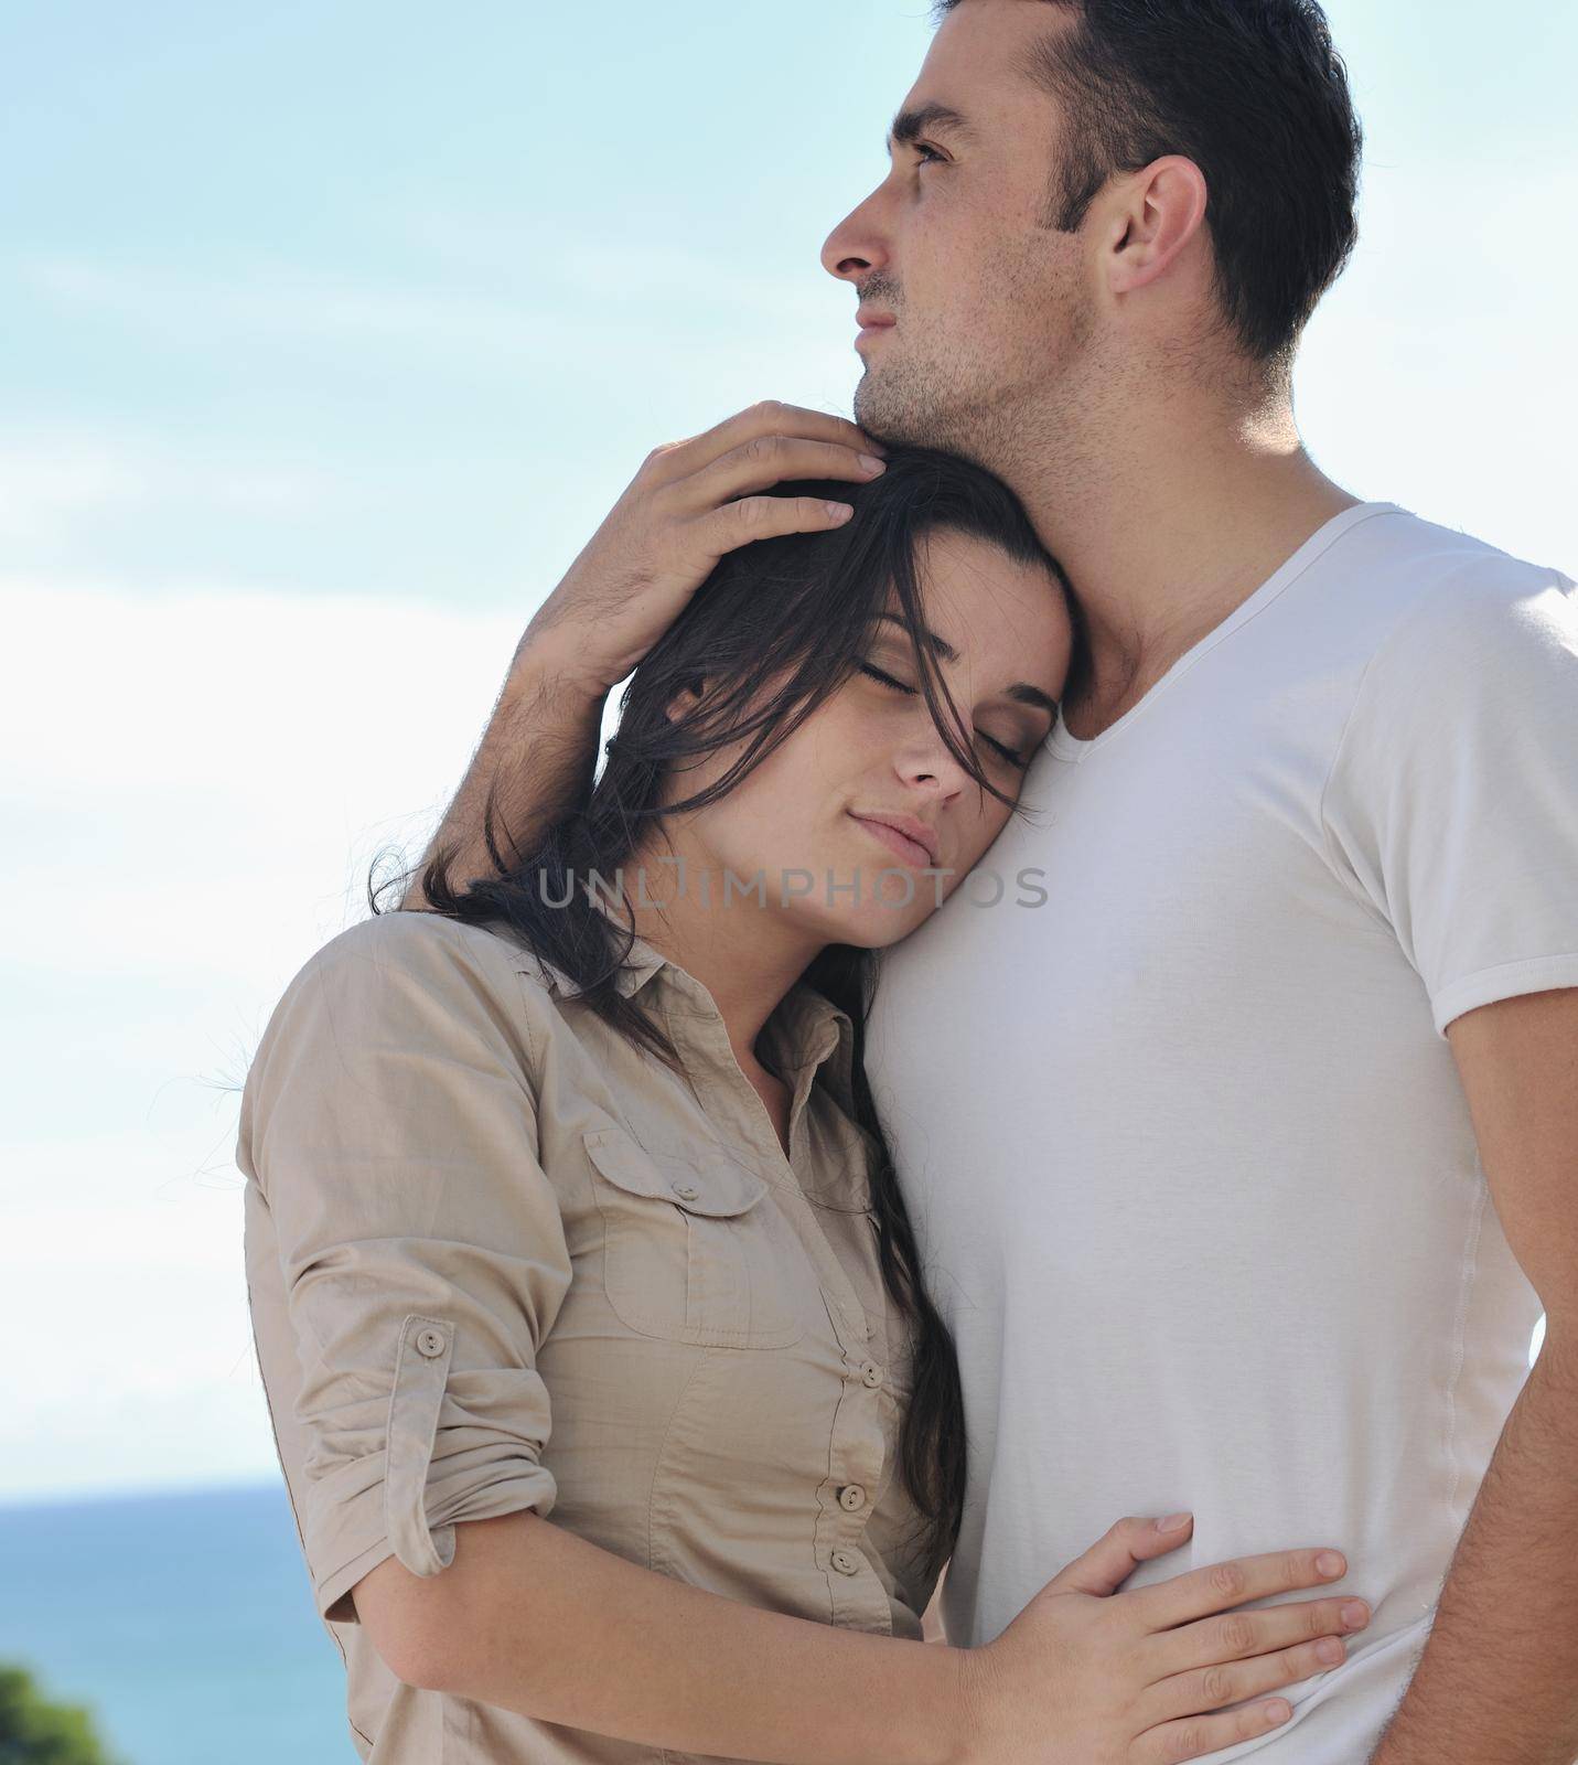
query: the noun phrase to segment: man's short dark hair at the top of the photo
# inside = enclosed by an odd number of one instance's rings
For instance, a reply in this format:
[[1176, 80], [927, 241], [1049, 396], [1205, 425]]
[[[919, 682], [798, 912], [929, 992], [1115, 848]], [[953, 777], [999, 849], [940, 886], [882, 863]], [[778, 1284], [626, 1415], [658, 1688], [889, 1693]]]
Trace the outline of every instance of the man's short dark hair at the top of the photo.
[[1027, 69], [1068, 118], [1052, 224], [1073, 231], [1114, 173], [1191, 159], [1223, 312], [1251, 358], [1285, 369], [1359, 233], [1363, 132], [1317, 0], [1034, 4], [1077, 16]]

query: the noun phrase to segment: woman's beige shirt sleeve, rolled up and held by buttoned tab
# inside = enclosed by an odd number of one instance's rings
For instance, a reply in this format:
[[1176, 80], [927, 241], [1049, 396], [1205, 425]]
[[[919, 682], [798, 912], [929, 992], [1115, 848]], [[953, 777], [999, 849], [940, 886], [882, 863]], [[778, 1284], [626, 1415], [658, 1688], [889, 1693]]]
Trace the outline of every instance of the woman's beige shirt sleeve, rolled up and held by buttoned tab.
[[394, 913], [327, 944], [270, 1018], [237, 1161], [279, 1250], [319, 1613], [455, 1523], [547, 1514], [537, 1352], [570, 1285], [537, 1158], [528, 1029], [491, 934]]

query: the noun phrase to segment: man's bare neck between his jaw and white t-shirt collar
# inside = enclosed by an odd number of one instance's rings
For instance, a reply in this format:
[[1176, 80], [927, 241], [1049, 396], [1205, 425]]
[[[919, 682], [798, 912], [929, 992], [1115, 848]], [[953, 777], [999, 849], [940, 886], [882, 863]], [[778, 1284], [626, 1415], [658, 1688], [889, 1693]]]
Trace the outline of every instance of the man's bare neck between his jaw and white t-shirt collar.
[[1225, 413], [1183, 394], [1082, 427], [1048, 425], [1010, 482], [1080, 604], [1064, 720], [1089, 740], [1359, 498], [1303, 450], [1287, 401]]

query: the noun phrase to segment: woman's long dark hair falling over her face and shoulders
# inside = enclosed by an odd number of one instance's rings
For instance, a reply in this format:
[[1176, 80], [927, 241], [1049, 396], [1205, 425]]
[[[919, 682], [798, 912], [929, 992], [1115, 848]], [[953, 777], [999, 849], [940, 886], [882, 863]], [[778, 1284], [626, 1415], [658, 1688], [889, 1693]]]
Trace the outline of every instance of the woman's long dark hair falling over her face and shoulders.
[[[773, 494], [833, 498], [851, 503], [854, 515], [842, 528], [757, 540], [720, 560], [627, 683], [618, 732], [590, 796], [549, 826], [535, 849], [521, 852], [507, 831], [508, 852], [500, 849], [494, 787], [484, 812], [492, 872], [457, 881], [455, 849], [441, 845], [422, 874], [434, 913], [470, 925], [505, 921], [526, 948], [582, 988], [591, 1011], [676, 1071], [678, 1054], [639, 995], [627, 999], [614, 985], [634, 925], [621, 932], [593, 905], [584, 879], [614, 879], [653, 822], [662, 835], [665, 815], [717, 801], [752, 771], [863, 660], [890, 590], [897, 591], [921, 690], [943, 740], [983, 791], [1011, 803], [958, 734], [955, 702], [925, 637], [920, 545], [936, 531], [971, 535], [1017, 563], [1041, 565], [1048, 593], [1066, 591], [1013, 492], [953, 454], [891, 447], [888, 469], [868, 484], [798, 480], [775, 485]], [[764, 697], [764, 683], [778, 676], [782, 685]], [[671, 720], [669, 706], [687, 688], [699, 695], [692, 710]], [[967, 722], [962, 727], [967, 731]], [[676, 762], [745, 738], [745, 752], [715, 784], [658, 807]], [[371, 890], [372, 911], [379, 911], [385, 890], [399, 884], [404, 893], [408, 877]], [[872, 1214], [883, 1281], [914, 1338], [898, 1458], [909, 1497], [928, 1523], [927, 1560], [936, 1574], [953, 1548], [964, 1509], [964, 1401], [953, 1338], [927, 1294], [891, 1147], [865, 1077], [875, 962], [868, 950], [830, 944], [803, 978], [854, 1024], [853, 1114], [874, 1151]]]

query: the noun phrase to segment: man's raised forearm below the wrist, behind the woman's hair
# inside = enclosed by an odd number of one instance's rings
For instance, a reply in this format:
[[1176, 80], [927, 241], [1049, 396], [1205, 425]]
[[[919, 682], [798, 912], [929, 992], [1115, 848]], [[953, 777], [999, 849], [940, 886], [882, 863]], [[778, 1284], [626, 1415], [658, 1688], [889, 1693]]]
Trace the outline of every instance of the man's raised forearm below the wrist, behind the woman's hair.
[[591, 792], [607, 690], [565, 662], [552, 641], [528, 627], [492, 708], [482, 743], [432, 842], [422, 854], [404, 909], [431, 905], [422, 872], [440, 845], [454, 845], [454, 881], [491, 875], [484, 808], [494, 792], [492, 837], [503, 854], [531, 851], [547, 826]]

